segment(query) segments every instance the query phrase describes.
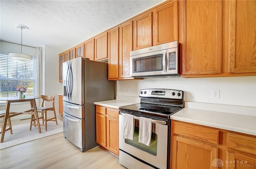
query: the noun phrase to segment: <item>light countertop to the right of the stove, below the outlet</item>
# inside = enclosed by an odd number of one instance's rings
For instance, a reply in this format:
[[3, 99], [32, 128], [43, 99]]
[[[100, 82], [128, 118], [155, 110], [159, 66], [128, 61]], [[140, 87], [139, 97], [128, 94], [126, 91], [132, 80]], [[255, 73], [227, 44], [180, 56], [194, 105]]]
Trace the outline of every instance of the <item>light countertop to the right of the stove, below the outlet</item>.
[[170, 118], [256, 136], [256, 116], [252, 115], [185, 107]]

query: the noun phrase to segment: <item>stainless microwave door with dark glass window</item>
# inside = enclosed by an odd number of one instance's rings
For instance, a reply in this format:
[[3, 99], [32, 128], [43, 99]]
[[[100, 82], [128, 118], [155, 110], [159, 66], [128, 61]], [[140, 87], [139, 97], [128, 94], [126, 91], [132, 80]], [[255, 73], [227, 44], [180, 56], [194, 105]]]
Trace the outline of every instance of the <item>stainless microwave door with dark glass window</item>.
[[130, 57], [130, 74], [136, 76], [165, 75], [167, 50]]

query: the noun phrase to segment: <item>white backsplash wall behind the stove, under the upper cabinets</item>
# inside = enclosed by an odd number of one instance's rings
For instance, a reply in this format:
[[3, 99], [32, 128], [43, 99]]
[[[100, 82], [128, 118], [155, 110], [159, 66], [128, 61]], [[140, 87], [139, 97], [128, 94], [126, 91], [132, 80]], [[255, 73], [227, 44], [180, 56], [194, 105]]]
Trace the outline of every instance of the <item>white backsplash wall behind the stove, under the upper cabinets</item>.
[[[183, 90], [184, 101], [256, 107], [256, 76], [123, 80], [117, 81], [116, 95], [138, 97], [145, 88]], [[212, 98], [212, 89], [220, 90], [220, 99]]]

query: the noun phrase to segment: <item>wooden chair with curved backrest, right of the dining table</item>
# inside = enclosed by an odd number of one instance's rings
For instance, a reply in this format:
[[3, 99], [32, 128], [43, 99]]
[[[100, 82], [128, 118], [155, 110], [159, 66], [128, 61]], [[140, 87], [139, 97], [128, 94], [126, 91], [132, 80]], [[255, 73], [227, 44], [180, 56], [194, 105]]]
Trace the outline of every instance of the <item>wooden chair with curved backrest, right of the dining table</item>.
[[[36, 109], [37, 109], [38, 113], [42, 113], [42, 117], [39, 118], [39, 119], [42, 119], [42, 124], [40, 124], [40, 126], [45, 126], [45, 131], [47, 131], [47, 122], [48, 121], [55, 121], [56, 125], [58, 125], [56, 112], [55, 112], [55, 108], [54, 108], [54, 98], [55, 98], [55, 96], [41, 95], [41, 97], [43, 99], [42, 106], [41, 107], [36, 107]], [[52, 106], [51, 107], [45, 107], [44, 106], [45, 102], [52, 102]], [[32, 108], [32, 110], [34, 110], [34, 108]], [[47, 111], [53, 111], [54, 112], [54, 117], [48, 119], [47, 118]], [[35, 115], [32, 114], [31, 120], [30, 120], [30, 130], [31, 130], [32, 126], [36, 126], [35, 121], [36, 121]], [[45, 122], [45, 124], [44, 124], [44, 122]]]

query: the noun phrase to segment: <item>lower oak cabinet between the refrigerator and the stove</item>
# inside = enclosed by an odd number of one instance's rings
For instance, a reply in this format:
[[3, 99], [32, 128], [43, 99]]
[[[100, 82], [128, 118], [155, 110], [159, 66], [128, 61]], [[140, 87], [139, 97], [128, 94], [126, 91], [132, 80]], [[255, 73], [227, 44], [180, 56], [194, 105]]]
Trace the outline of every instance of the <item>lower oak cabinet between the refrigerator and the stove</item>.
[[96, 105], [96, 142], [119, 155], [119, 110]]

